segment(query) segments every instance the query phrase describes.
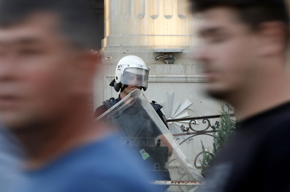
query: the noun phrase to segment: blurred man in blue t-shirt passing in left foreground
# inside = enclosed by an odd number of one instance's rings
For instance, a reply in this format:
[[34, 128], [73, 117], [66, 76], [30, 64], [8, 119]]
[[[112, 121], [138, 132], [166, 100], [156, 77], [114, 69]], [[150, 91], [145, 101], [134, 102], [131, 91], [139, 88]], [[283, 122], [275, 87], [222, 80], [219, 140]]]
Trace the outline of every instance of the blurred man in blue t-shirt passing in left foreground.
[[97, 24], [82, 2], [0, 1], [0, 121], [27, 153], [15, 190], [152, 191], [130, 152], [93, 123]]

